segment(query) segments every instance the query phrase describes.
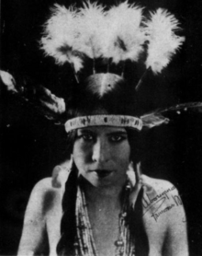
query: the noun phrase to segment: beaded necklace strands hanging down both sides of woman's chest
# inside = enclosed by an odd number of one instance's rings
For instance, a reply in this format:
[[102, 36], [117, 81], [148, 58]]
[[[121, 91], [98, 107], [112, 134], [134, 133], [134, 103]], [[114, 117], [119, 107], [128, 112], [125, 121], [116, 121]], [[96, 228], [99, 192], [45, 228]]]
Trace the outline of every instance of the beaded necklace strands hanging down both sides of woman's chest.
[[[118, 239], [115, 241], [115, 256], [135, 256], [134, 237], [129, 232], [127, 215], [129, 213], [129, 187], [126, 187], [123, 207], [118, 220]], [[76, 238], [74, 242], [75, 256], [98, 256], [90, 225], [84, 191], [78, 186], [76, 199]]]

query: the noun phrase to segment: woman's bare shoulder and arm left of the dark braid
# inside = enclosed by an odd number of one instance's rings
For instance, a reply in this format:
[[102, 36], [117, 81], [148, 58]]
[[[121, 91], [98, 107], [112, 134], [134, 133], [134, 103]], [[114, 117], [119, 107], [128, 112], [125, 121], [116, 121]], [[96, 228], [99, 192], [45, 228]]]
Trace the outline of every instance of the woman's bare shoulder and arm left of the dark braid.
[[42, 255], [41, 251], [47, 243], [45, 234], [49, 237], [50, 254], [56, 255], [55, 248], [60, 238], [62, 195], [68, 175], [67, 170], [56, 168], [52, 177], [39, 180], [34, 186], [28, 200], [17, 255]]

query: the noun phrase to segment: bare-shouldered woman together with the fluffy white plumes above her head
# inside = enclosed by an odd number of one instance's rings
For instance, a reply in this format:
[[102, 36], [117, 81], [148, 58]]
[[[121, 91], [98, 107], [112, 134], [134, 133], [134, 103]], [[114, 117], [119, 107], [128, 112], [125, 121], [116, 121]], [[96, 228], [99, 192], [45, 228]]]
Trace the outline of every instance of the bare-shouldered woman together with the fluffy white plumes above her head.
[[[151, 22], [128, 2], [104, 9], [55, 6], [45, 25], [42, 49], [59, 64], [69, 62], [77, 82], [62, 116], [72, 158], [31, 193], [18, 255], [40, 255], [46, 245], [51, 256], [188, 254], [176, 188], [140, 171], [142, 79], [135, 88], [126, 62], [143, 57], [146, 71], [160, 73], [184, 38], [162, 9]], [[163, 37], [168, 43], [160, 51]]]

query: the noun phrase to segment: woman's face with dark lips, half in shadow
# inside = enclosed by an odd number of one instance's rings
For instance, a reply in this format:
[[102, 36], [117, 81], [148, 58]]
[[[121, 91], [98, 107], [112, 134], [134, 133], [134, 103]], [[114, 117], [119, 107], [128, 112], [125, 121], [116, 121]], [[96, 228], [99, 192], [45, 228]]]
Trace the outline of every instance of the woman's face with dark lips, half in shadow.
[[118, 127], [86, 127], [76, 131], [73, 160], [79, 174], [94, 186], [121, 186], [126, 181], [130, 146]]

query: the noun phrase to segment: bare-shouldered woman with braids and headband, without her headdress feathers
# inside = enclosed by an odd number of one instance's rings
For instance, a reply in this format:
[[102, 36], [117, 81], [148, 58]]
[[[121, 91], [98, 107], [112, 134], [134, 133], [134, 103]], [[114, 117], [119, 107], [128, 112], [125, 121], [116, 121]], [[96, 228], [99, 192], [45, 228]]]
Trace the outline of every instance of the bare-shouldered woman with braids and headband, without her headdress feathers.
[[[92, 84], [106, 88], [101, 99]], [[82, 86], [65, 124], [72, 160], [31, 193], [18, 255], [40, 255], [46, 242], [50, 255], [187, 255], [185, 211], [176, 188], [141, 175], [140, 126], [127, 122], [125, 80], [96, 74]]]

